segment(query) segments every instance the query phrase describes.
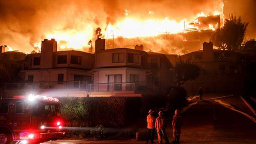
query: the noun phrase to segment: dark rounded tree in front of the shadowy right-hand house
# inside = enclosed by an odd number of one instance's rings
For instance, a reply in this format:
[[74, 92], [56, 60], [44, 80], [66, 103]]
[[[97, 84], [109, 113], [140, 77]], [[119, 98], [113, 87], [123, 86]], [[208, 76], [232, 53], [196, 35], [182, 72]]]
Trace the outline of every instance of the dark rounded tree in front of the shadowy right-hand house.
[[183, 62], [180, 59], [180, 62], [174, 67], [175, 79], [178, 83], [178, 86], [185, 83], [187, 80], [193, 80], [199, 77], [200, 67], [196, 64], [190, 63], [189, 61]]

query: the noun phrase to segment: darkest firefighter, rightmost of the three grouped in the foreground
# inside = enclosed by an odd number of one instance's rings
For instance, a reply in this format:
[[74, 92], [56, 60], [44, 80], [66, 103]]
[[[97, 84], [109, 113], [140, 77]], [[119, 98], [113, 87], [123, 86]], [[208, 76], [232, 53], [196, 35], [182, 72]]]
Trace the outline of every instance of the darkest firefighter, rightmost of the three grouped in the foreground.
[[179, 143], [181, 133], [182, 117], [178, 109], [175, 110], [173, 115], [173, 143]]

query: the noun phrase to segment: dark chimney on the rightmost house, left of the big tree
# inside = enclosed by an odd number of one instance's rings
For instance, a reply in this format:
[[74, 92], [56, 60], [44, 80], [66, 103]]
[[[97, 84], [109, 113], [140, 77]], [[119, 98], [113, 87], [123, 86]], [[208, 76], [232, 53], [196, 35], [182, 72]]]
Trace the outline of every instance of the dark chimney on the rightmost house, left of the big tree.
[[212, 42], [204, 42], [203, 43], [202, 58], [203, 58], [204, 61], [212, 61], [213, 60], [213, 46], [212, 46]]

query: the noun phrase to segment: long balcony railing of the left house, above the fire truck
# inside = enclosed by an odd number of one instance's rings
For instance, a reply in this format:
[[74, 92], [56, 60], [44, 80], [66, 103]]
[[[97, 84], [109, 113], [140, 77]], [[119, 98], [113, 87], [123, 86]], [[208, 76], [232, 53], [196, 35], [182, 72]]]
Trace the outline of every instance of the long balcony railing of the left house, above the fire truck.
[[49, 82], [22, 82], [6, 83], [6, 90], [19, 89], [51, 89], [51, 88], [77, 88], [86, 90], [87, 81], [49, 81]]

